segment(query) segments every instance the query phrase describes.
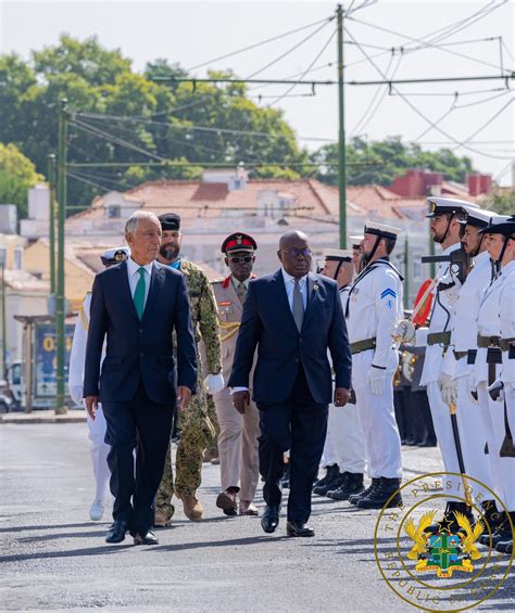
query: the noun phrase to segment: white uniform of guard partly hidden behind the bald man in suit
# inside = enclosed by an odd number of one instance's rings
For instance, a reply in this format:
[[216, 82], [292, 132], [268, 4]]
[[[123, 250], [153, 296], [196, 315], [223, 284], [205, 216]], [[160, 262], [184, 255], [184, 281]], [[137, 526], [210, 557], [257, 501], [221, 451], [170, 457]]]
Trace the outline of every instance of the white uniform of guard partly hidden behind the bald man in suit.
[[[340, 290], [343, 312], [347, 307], [349, 286]], [[322, 465], [338, 464], [340, 473], [365, 472], [365, 438], [356, 405], [348, 403], [344, 407], [329, 405], [327, 435], [322, 456]]]

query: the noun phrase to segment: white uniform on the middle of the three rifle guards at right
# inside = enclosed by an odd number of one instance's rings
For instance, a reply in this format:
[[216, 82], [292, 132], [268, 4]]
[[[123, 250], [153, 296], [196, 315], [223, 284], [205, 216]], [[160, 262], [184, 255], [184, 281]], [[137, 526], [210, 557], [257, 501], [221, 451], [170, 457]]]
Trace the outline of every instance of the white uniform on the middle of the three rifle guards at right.
[[[463, 284], [454, 305], [452, 318], [451, 346], [456, 353], [468, 353], [477, 346], [479, 306], [485, 289], [491, 281], [492, 268], [488, 252], [480, 253], [474, 259], [474, 268]], [[485, 454], [487, 436], [482, 427], [481, 411], [470, 396], [470, 378], [474, 376], [474, 362], [468, 355], [455, 359], [449, 348], [444, 370], [456, 382], [457, 412], [456, 421], [463, 451], [463, 463], [467, 475], [492, 487], [492, 475], [488, 456]], [[473, 354], [470, 354], [470, 357]], [[490, 500], [492, 495], [476, 482], [469, 483], [473, 497], [478, 501]]]

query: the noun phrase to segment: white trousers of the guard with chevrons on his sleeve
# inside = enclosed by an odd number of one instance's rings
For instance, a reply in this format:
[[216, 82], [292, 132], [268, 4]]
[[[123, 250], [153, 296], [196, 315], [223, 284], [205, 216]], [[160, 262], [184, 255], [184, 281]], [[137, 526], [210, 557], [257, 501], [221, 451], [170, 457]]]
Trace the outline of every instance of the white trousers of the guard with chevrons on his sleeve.
[[368, 475], [373, 478], [402, 478], [401, 437], [393, 410], [393, 373], [399, 358], [395, 350], [390, 352], [391, 363], [388, 365], [387, 383], [380, 396], [370, 392], [366, 381], [373, 358], [372, 350], [352, 357], [352, 386], [365, 435]]

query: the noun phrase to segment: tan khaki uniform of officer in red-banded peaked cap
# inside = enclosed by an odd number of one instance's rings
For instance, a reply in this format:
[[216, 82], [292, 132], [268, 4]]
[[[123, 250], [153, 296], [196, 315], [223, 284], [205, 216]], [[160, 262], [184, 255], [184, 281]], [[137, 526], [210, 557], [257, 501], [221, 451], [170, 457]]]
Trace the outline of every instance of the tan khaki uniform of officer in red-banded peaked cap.
[[[213, 291], [218, 307], [224, 374], [228, 379], [233, 370], [243, 305], [236, 293], [231, 277], [223, 281], [215, 281]], [[260, 468], [258, 407], [251, 401], [246, 413], [240, 414], [233, 406], [227, 387], [214, 394], [213, 399], [219, 423], [218, 456], [222, 489], [240, 487], [240, 500], [252, 501], [258, 487]]]

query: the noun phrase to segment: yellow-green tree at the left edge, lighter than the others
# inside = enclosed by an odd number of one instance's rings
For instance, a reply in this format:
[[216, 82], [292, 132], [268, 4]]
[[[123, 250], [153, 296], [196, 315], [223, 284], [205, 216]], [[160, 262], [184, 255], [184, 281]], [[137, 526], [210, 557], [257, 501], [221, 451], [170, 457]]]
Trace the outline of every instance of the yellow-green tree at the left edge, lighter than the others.
[[27, 214], [27, 190], [43, 180], [34, 164], [13, 143], [0, 142], [0, 203], [15, 204], [18, 217]]

